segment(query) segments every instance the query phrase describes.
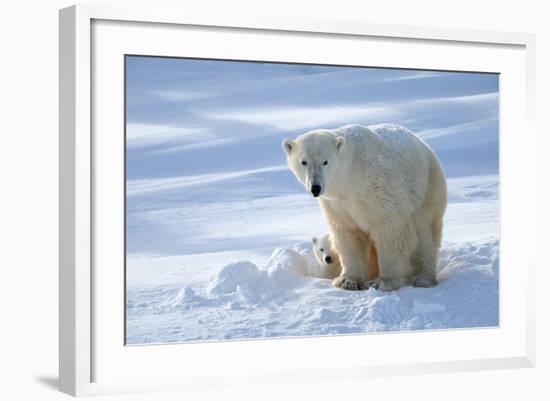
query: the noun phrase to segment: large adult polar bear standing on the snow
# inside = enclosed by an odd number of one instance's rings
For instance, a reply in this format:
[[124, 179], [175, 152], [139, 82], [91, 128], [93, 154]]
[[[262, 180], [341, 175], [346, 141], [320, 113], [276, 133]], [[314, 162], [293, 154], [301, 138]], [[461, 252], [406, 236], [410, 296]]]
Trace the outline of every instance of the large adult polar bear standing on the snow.
[[[404, 127], [383, 124], [313, 130], [285, 139], [283, 149], [297, 179], [319, 197], [340, 254], [336, 287], [437, 284], [447, 185], [428, 145]], [[379, 274], [365, 282], [368, 241]]]

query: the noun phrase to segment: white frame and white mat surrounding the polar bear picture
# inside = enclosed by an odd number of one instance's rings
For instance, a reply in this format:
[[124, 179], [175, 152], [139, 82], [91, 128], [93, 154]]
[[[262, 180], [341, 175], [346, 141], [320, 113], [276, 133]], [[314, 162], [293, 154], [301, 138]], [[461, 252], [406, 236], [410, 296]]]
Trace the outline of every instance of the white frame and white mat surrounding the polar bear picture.
[[[118, 286], [123, 266], [117, 264], [115, 256], [110, 259], [114, 261], [111, 269], [114, 275], [98, 274], [97, 269], [110, 262], [104, 259], [109, 256], [97, 253], [94, 245], [106, 240], [109, 235], [113, 236], [109, 240], [114, 243], [123, 241], [120, 230], [113, 230], [111, 234], [101, 232], [104, 225], [100, 221], [102, 218], [119, 221], [122, 205], [115, 208], [118, 212], [110, 215], [110, 212], [104, 212], [107, 198], [96, 196], [98, 192], [109, 193], [109, 188], [116, 185], [121, 190], [123, 183], [122, 180], [117, 181], [117, 174], [105, 187], [98, 187], [103, 184], [101, 180], [96, 180], [96, 176], [102, 174], [101, 169], [109, 167], [102, 160], [115, 160], [121, 156], [117, 156], [120, 149], [115, 143], [111, 146], [107, 142], [97, 143], [94, 140], [94, 126], [97, 129], [102, 124], [100, 109], [103, 106], [94, 102], [94, 96], [97, 96], [95, 91], [101, 89], [94, 88], [92, 77], [103, 68], [100, 59], [105, 57], [119, 59], [120, 54], [131, 53], [132, 49], [137, 49], [141, 54], [154, 55], [173, 52], [174, 43], [161, 39], [170, 35], [185, 35], [185, 27], [192, 27], [199, 32], [199, 36], [202, 34], [200, 32], [208, 35], [209, 30], [213, 30], [216, 33], [213, 37], [217, 38], [226, 35], [228, 40], [238, 40], [235, 35], [242, 34], [243, 38], [246, 35], [263, 35], [265, 40], [273, 40], [273, 43], [283, 40], [282, 36], [290, 38], [292, 35], [298, 39], [305, 38], [305, 41], [323, 37], [327, 40], [339, 38], [342, 43], [346, 40], [383, 40], [386, 45], [394, 42], [397, 45], [399, 41], [411, 45], [414, 42], [418, 46], [436, 46], [443, 57], [440, 60], [427, 57], [419, 61], [410, 56], [407, 64], [404, 57], [409, 56], [408, 52], [394, 53], [386, 55], [388, 58], [383, 65], [452, 69], [449, 68], [452, 54], [464, 52], [464, 63], [469, 64], [455, 64], [455, 69], [498, 72], [510, 77], [506, 78], [501, 90], [501, 217], [505, 217], [501, 227], [501, 246], [504, 249], [501, 254], [501, 325], [497, 329], [175, 344], [125, 349], [119, 336], [124, 324], [124, 314], [120, 313], [124, 307], [120, 305], [123, 288]], [[141, 32], [144, 29], [148, 29], [146, 34]], [[131, 45], [127, 42], [130, 38], [134, 41]], [[137, 41], [139, 43], [135, 43]], [[210, 42], [206, 37], [201, 43], [204, 43], [201, 46], [204, 49], [198, 52], [210, 51]], [[536, 221], [535, 132], [532, 116], [534, 43], [533, 35], [523, 33], [292, 18], [242, 17], [237, 20], [189, 14], [185, 9], [167, 11], [155, 7], [119, 9], [78, 5], [61, 10], [60, 390], [79, 396], [235, 386], [244, 385], [249, 380], [280, 385], [292, 382], [296, 377], [306, 381], [326, 380], [328, 377], [360, 380], [381, 375], [534, 366], [533, 272], [536, 252], [529, 251], [534, 247], [532, 237]], [[212, 49], [214, 46], [215, 43]], [[483, 55], [487, 49], [494, 49], [494, 57]], [[224, 46], [223, 51], [226, 58], [251, 57], [244, 53], [235, 54], [231, 46]], [[426, 51], [429, 52], [429, 49]], [[468, 57], [468, 52], [477, 52], [475, 54], [479, 58]], [[449, 57], [445, 57], [447, 54]], [[289, 56], [281, 57], [290, 61]], [[352, 60], [346, 62], [351, 63]], [[117, 86], [121, 74], [122, 71], [117, 69], [113, 76], [107, 77], [114, 85], [114, 90], [122, 91], [122, 87]], [[115, 120], [110, 121], [117, 127], [120, 125], [117, 119], [123, 118], [124, 113], [119, 106], [116, 100], [109, 104], [119, 113]], [[123, 129], [122, 126], [120, 129]], [[521, 134], [513, 135], [517, 131]], [[512, 156], [514, 166], [510, 163]], [[518, 190], [518, 185], [521, 185], [522, 191]], [[517, 269], [513, 279], [507, 267], [512, 265]], [[510, 299], [513, 288], [515, 296]], [[94, 298], [97, 291], [102, 293], [101, 301]], [[115, 312], [109, 316], [103, 313], [108, 305], [115, 305], [111, 308]], [[437, 357], [429, 352], [421, 355], [419, 352], [404, 354], [400, 351], [410, 344], [421, 347], [422, 344], [444, 344], [450, 339], [456, 341], [454, 349], [448, 350], [448, 353], [438, 351], [440, 355]], [[366, 353], [370, 361], [358, 358], [353, 363], [347, 363], [337, 359], [337, 351], [342, 347], [361, 349], [365, 341], [376, 343], [373, 350]], [[326, 350], [323, 359], [318, 356], [321, 347]], [[393, 352], [385, 355], [376, 353], [376, 349], [384, 347], [390, 347], [395, 355]], [[281, 355], [289, 353], [295, 355], [296, 359], [292, 361], [293, 366], [287, 368], [288, 361]], [[182, 362], [182, 355], [185, 355], [185, 363]], [[211, 360], [213, 357], [220, 358], [219, 366], [214, 369], [199, 363], [201, 359]], [[229, 362], [224, 363], [224, 360]], [[173, 367], [177, 362], [180, 363], [178, 372], [172, 375], [158, 368], [162, 364]]]

